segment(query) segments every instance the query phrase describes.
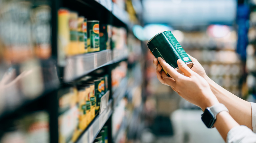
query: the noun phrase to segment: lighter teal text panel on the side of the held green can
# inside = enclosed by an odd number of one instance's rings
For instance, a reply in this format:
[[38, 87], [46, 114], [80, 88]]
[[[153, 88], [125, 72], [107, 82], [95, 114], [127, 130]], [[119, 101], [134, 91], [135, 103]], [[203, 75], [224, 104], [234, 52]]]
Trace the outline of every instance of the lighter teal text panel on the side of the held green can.
[[[164, 35], [169, 39], [169, 41], [171, 42], [171, 46], [172, 48], [176, 49], [177, 54], [179, 56], [181, 56], [182, 60], [184, 62], [187, 61], [191, 61], [191, 59], [189, 58], [189, 56], [187, 56], [186, 52], [184, 51], [184, 49], [181, 47], [181, 44], [178, 42], [178, 40], [173, 36], [171, 31], [165, 31], [163, 32]], [[159, 53], [160, 54], [160, 53]]]

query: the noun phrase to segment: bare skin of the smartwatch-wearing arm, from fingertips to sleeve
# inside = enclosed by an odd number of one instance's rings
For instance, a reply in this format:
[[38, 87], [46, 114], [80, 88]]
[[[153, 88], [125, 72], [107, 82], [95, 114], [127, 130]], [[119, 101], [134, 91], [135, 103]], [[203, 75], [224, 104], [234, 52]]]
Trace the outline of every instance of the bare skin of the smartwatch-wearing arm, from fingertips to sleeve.
[[[182, 60], [178, 60], [178, 65], [186, 76], [178, 73], [162, 58], [159, 58], [159, 62], [171, 76], [168, 77], [164, 71], [161, 71], [160, 75], [158, 75], [161, 82], [172, 87], [182, 98], [199, 106], [202, 110], [219, 103], [207, 81], [202, 76], [189, 69]], [[214, 126], [223, 139], [226, 140], [228, 132], [232, 128], [239, 126], [239, 124], [228, 112], [223, 111], [217, 115], [217, 120]]]

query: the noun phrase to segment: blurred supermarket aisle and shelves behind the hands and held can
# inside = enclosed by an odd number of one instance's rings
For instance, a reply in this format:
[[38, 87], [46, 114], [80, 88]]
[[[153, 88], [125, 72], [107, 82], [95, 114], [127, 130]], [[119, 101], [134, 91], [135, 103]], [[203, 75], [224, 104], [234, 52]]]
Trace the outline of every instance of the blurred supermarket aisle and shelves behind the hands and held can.
[[255, 102], [256, 0], [0, 0], [0, 142], [224, 143], [158, 81], [164, 30]]

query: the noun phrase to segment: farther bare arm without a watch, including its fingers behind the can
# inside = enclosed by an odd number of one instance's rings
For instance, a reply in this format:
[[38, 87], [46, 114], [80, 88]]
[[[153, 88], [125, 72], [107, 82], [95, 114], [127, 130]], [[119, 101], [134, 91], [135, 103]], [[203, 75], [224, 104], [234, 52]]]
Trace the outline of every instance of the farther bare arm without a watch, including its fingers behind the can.
[[[190, 59], [193, 61], [194, 66], [192, 67], [192, 71], [198, 73], [202, 76], [210, 85], [210, 88], [214, 95], [217, 97], [220, 103], [223, 103], [229, 110], [229, 114], [235, 119], [240, 125], [245, 125], [252, 129], [252, 114], [251, 114], [251, 104], [234, 94], [230, 93], [223, 87], [216, 84], [213, 80], [211, 80], [205, 73], [201, 64], [197, 61], [197, 59], [190, 56]], [[157, 68], [157, 77], [162, 84], [166, 83], [162, 80], [160, 71], [162, 70], [161, 65], [158, 63], [157, 58], [154, 58], [153, 61], [155, 67]], [[175, 91], [175, 90], [174, 90]]]

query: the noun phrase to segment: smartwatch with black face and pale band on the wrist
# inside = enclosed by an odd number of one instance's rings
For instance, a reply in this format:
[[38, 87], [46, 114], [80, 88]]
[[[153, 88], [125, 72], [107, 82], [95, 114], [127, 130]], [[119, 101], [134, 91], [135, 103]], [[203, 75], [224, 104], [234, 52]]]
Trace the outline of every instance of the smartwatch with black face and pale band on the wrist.
[[216, 121], [216, 116], [222, 111], [229, 112], [226, 106], [222, 103], [215, 104], [211, 107], [207, 107], [204, 110], [201, 119], [207, 128], [213, 128], [213, 124]]

